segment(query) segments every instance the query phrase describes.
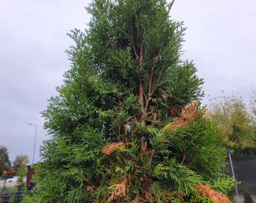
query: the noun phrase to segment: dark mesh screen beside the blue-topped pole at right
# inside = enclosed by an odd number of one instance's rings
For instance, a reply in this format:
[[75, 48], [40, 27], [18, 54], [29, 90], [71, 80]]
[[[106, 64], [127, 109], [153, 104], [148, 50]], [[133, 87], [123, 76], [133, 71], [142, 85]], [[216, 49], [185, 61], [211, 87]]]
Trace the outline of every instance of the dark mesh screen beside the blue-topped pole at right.
[[[241, 181], [241, 183], [237, 185], [239, 202], [243, 203], [244, 197], [246, 196], [251, 196], [251, 199], [256, 202], [256, 156], [231, 154], [231, 160], [235, 179], [239, 182]], [[228, 158], [224, 172], [232, 176]], [[233, 191], [233, 195], [236, 198], [235, 190]]]

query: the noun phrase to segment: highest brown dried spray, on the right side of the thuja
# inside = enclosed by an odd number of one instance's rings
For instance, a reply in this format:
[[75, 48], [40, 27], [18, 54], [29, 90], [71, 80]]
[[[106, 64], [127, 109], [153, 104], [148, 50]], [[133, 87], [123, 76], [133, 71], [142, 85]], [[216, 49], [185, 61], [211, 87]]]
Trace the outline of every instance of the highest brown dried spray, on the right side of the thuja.
[[175, 119], [173, 122], [167, 124], [164, 130], [173, 130], [188, 124], [188, 122], [194, 121], [197, 117], [203, 114], [203, 112], [197, 109], [198, 101], [191, 102], [190, 105], [182, 109], [181, 116]]

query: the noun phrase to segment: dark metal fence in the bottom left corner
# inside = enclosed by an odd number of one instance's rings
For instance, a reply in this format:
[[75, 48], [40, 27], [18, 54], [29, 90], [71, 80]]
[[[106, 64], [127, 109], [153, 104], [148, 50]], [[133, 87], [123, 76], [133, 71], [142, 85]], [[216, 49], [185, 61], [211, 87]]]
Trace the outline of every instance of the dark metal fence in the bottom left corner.
[[21, 191], [21, 187], [18, 187], [18, 191], [1, 191], [0, 203], [20, 203], [22, 197], [28, 193], [27, 190]]

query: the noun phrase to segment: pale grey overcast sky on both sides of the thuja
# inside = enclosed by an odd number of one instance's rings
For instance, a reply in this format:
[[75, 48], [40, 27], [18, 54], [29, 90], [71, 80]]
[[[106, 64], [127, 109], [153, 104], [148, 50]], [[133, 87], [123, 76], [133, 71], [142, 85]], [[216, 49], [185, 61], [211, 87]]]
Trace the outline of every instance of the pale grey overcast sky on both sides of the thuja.
[[[10, 160], [33, 158], [35, 125], [39, 146], [49, 139], [40, 112], [57, 95], [62, 75], [70, 67], [65, 53], [73, 41], [69, 30], [84, 30], [90, 15], [82, 0], [0, 0], [0, 146]], [[204, 103], [210, 97], [239, 92], [246, 104], [255, 89], [255, 0], [176, 0], [172, 19], [184, 21], [182, 58], [193, 60], [204, 78]], [[209, 96], [210, 95], [210, 96]]]

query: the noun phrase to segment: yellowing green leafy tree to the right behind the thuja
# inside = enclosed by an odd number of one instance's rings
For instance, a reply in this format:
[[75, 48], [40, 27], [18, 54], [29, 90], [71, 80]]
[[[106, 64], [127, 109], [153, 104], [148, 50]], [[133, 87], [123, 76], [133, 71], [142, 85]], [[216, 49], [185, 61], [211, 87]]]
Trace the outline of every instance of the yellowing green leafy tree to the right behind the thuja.
[[233, 94], [212, 99], [207, 110], [207, 116], [220, 129], [224, 147], [236, 154], [254, 154], [255, 125], [241, 97]]

